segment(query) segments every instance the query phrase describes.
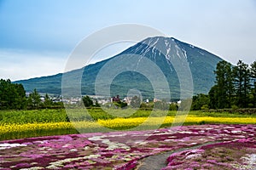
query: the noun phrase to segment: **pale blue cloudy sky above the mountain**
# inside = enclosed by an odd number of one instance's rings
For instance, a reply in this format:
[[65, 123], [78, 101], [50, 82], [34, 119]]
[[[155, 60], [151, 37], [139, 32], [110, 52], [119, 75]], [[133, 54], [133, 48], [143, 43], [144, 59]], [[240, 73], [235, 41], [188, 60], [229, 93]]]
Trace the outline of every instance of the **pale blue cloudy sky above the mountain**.
[[232, 64], [256, 59], [255, 0], [0, 0], [0, 78], [62, 72], [84, 37], [124, 23], [151, 26]]

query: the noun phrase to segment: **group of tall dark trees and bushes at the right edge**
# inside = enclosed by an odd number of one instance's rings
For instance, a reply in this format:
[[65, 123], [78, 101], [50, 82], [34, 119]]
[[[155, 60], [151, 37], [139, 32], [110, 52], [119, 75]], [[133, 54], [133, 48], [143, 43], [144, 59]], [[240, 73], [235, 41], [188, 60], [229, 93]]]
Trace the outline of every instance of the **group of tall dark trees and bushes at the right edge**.
[[256, 61], [231, 65], [222, 60], [214, 74], [214, 86], [208, 94], [193, 97], [192, 110], [256, 107]]

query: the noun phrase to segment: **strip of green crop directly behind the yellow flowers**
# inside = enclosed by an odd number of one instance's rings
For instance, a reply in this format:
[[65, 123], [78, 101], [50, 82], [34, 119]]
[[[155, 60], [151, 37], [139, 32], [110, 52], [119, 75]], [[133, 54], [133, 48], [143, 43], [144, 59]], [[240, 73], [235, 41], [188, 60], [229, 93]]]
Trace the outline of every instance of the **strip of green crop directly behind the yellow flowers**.
[[[68, 114], [67, 114], [68, 113]], [[68, 122], [70, 121], [97, 121], [108, 120], [117, 117], [134, 118], [134, 117], [160, 117], [175, 116], [176, 111], [143, 111], [129, 109], [104, 109], [92, 108], [88, 110], [70, 109], [66, 113], [65, 109], [44, 109], [32, 111], [0, 111], [1, 124], [25, 124], [34, 122]], [[228, 112], [204, 112], [190, 111], [189, 116], [212, 116], [212, 117], [256, 117], [256, 114], [241, 114]]]

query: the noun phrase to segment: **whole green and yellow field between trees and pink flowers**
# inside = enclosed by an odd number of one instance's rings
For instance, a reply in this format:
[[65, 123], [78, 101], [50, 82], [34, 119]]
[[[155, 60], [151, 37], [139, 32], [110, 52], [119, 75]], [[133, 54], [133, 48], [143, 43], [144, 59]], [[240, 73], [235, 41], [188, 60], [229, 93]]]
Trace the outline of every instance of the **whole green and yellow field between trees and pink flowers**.
[[256, 124], [255, 114], [190, 111], [143, 111], [101, 108], [32, 111], [0, 111], [0, 139], [21, 139], [68, 133], [95, 133], [115, 130], [145, 130], [157, 127], [199, 124]]

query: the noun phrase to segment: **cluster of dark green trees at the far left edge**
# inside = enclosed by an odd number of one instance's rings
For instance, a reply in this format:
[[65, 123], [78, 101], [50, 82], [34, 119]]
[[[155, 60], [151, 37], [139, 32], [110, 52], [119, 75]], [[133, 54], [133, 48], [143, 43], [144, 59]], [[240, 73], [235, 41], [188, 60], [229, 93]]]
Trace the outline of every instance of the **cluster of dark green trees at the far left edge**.
[[26, 91], [22, 84], [12, 83], [9, 79], [0, 80], [0, 110], [26, 110], [63, 107], [61, 103], [54, 103], [48, 94], [42, 101], [40, 94], [34, 89], [26, 97]]

